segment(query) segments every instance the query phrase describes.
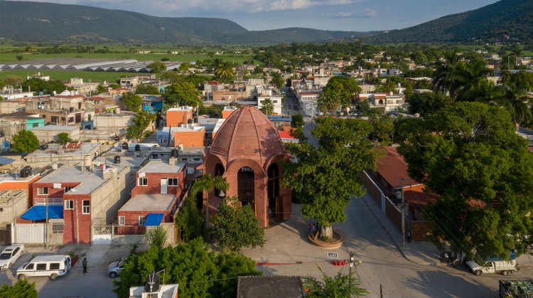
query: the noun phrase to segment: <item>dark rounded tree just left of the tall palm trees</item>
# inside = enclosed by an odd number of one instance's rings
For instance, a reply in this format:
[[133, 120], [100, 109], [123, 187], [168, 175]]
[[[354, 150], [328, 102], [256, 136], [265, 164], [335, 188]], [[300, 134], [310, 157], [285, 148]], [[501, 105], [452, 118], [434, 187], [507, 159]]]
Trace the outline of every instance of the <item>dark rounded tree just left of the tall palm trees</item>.
[[407, 95], [407, 102], [411, 114], [419, 113], [421, 117], [426, 117], [451, 105], [451, 98], [442, 93], [411, 93]]

